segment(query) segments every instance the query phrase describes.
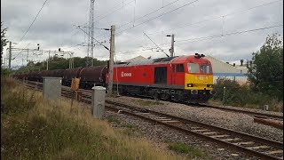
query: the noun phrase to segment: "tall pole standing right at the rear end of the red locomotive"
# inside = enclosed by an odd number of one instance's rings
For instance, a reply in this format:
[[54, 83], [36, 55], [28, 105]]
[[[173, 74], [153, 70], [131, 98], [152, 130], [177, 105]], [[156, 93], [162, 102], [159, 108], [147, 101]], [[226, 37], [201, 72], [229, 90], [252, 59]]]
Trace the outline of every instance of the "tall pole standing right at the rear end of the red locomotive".
[[108, 68], [108, 95], [113, 92], [113, 76], [114, 76], [114, 34], [115, 25], [111, 26], [111, 37], [110, 37], [110, 56], [109, 56], [109, 68]]

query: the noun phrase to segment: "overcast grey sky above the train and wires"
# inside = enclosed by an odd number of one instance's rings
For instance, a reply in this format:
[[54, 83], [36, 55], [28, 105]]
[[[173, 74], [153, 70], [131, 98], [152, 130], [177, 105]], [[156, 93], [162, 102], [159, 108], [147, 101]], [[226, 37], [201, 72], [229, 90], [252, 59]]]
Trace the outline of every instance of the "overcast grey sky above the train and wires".
[[[12, 47], [36, 49], [40, 44], [43, 50], [61, 48], [85, 57], [87, 46], [83, 45], [88, 44], [88, 36], [76, 26], [88, 27], [90, 0], [47, 0], [43, 6], [44, 1], [1, 0], [6, 37], [17, 43]], [[166, 35], [175, 34], [177, 56], [199, 52], [239, 62], [251, 59], [251, 53], [259, 50], [266, 36], [275, 32], [283, 36], [283, 0], [96, 0], [94, 5], [95, 28], [116, 27], [116, 60], [138, 55], [165, 57], [157, 52], [155, 44], [170, 55], [171, 37]], [[107, 47], [109, 37], [110, 31], [94, 31], [94, 38], [106, 42], [103, 44]], [[28, 60], [47, 57], [29, 53]], [[26, 64], [27, 52], [12, 52], [12, 58], [12, 65]], [[95, 45], [94, 58], [107, 60], [109, 52]]]

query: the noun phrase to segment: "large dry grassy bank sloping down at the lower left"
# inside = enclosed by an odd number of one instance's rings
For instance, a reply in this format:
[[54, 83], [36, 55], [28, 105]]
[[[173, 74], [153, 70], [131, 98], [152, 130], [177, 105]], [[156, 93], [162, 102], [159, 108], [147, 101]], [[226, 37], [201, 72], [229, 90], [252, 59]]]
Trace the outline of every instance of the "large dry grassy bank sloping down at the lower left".
[[[76, 104], [70, 112], [70, 100], [43, 100], [41, 92], [9, 88], [3, 82], [1, 87], [3, 159], [186, 159], [154, 148], [133, 133], [115, 131], [88, 109], [78, 113]], [[118, 123], [114, 117], [110, 121]]]

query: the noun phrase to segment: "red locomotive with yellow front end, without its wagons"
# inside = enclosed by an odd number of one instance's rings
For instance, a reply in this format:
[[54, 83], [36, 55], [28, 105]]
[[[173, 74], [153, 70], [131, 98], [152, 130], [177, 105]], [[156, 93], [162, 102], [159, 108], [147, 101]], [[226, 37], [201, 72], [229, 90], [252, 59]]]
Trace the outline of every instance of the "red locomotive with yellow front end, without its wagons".
[[[213, 73], [203, 54], [114, 64], [119, 92], [162, 100], [201, 102], [213, 94]], [[106, 83], [108, 75], [106, 75]]]

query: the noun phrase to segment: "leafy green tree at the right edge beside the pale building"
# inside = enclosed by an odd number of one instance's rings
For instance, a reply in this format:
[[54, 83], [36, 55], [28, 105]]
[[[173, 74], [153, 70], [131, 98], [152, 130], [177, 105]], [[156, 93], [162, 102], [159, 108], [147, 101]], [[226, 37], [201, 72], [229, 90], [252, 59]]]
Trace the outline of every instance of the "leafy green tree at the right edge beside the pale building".
[[267, 36], [265, 44], [252, 55], [248, 80], [253, 88], [283, 100], [283, 43], [280, 35]]

